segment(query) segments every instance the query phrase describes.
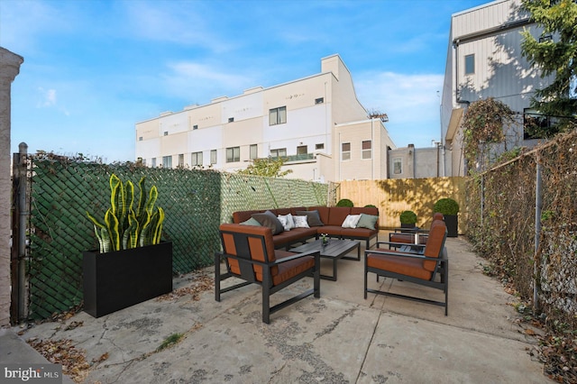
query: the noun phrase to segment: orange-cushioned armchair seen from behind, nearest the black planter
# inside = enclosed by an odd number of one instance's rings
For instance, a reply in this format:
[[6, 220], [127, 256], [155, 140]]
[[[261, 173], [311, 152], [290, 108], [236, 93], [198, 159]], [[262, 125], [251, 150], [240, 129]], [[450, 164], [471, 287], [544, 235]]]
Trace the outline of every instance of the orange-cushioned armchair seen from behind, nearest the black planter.
[[[220, 237], [223, 251], [215, 252], [216, 301], [220, 301], [225, 292], [258, 284], [262, 289], [262, 322], [270, 324], [270, 314], [310, 295], [320, 297], [319, 251], [295, 253], [275, 250], [272, 231], [264, 226], [221, 224]], [[223, 260], [225, 273], [221, 273]], [[222, 288], [221, 281], [231, 277], [244, 281]], [[272, 294], [305, 277], [313, 278], [313, 288], [270, 307]]]

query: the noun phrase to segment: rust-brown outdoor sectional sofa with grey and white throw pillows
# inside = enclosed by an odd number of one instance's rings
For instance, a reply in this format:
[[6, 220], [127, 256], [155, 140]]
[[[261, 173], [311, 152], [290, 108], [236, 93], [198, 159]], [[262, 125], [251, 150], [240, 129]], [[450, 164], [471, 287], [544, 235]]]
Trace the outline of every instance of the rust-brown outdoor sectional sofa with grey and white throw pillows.
[[[298, 242], [306, 242], [311, 238], [318, 239], [322, 233], [337, 239], [362, 240], [366, 243], [367, 249], [370, 248], [372, 239], [375, 239], [375, 243], [379, 240], [379, 209], [371, 206], [300, 206], [268, 210], [237, 211], [233, 213], [233, 223], [249, 225], [270, 224], [268, 220], [269, 217], [263, 216], [267, 211], [277, 217], [279, 215], [289, 214], [292, 216], [307, 216], [309, 228], [298, 227], [291, 228], [289, 231], [285, 231], [284, 229], [279, 231], [278, 224], [273, 223], [272, 225], [276, 224], [276, 228], [271, 226], [271, 229], [273, 229], [272, 238], [275, 248], [284, 247], [289, 250], [290, 245]], [[359, 215], [359, 221], [356, 224], [348, 225], [345, 223], [345, 220], [349, 215]], [[255, 223], [255, 220], [260, 220], [261, 223]]]

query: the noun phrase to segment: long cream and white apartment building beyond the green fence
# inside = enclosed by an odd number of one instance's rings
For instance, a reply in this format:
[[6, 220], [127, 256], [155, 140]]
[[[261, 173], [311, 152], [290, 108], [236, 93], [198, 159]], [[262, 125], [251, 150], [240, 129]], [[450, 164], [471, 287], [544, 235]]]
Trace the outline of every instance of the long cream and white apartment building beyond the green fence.
[[339, 55], [321, 59], [319, 74], [136, 123], [136, 159], [150, 167], [234, 172], [281, 157], [288, 178], [381, 179], [395, 148], [383, 119], [357, 100]]

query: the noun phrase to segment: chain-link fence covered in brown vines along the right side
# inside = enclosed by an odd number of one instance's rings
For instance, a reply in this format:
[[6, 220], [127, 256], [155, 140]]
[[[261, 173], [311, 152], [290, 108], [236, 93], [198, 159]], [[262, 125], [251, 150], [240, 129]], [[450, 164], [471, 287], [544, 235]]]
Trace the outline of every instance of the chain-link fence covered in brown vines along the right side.
[[576, 164], [573, 131], [470, 178], [466, 193], [466, 232], [491, 272], [549, 321], [571, 329], [577, 326]]

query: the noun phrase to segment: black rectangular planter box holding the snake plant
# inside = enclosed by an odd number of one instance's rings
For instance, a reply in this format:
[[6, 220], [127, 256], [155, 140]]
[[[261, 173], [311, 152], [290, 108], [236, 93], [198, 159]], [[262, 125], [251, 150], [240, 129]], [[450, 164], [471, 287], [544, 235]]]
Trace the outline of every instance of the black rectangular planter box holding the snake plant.
[[172, 242], [82, 254], [84, 311], [88, 315], [108, 315], [172, 291]]

